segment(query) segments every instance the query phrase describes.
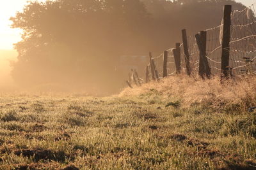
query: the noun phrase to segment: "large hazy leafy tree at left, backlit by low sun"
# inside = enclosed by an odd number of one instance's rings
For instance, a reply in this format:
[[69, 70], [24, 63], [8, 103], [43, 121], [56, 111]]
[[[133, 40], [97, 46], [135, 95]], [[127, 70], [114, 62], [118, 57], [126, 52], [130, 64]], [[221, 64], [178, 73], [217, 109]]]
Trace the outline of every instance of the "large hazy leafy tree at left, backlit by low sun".
[[139, 46], [141, 39], [132, 39], [147, 18], [139, 0], [29, 3], [11, 18], [13, 28], [24, 30], [13, 78], [21, 85], [76, 82], [116, 90], [118, 56]]

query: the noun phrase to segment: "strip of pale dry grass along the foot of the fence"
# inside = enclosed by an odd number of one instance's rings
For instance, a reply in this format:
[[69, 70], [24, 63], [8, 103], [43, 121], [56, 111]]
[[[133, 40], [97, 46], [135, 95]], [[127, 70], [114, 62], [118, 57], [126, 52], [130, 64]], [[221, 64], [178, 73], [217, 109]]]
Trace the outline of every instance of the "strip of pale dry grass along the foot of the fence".
[[223, 108], [224, 110], [245, 110], [255, 106], [256, 78], [247, 76], [239, 80], [220, 82], [220, 78], [211, 80], [189, 78], [188, 76], [170, 76], [159, 82], [153, 81], [134, 89], [126, 88], [120, 93], [124, 96], [161, 96], [161, 100], [179, 99], [182, 107], [195, 104]]

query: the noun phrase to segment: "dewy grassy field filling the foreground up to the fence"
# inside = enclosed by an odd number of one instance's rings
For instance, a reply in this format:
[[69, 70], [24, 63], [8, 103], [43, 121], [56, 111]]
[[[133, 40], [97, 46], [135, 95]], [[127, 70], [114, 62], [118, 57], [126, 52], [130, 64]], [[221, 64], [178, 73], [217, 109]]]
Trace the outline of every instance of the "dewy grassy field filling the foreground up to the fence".
[[[170, 81], [112, 97], [2, 95], [0, 169], [256, 169], [255, 84], [233, 85], [234, 99]], [[186, 83], [213, 91], [187, 86], [185, 99]]]

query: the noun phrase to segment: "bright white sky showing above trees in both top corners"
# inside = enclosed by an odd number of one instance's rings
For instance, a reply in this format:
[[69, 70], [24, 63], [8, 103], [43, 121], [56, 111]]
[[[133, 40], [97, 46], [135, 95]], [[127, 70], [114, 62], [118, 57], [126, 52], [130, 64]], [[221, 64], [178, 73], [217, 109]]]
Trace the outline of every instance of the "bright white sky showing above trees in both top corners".
[[[13, 43], [20, 41], [20, 31], [10, 28], [12, 22], [10, 22], [9, 18], [15, 16], [16, 11], [21, 11], [27, 1], [28, 0], [0, 0], [0, 49], [12, 49]], [[237, 1], [246, 6], [256, 3], [256, 0]]]

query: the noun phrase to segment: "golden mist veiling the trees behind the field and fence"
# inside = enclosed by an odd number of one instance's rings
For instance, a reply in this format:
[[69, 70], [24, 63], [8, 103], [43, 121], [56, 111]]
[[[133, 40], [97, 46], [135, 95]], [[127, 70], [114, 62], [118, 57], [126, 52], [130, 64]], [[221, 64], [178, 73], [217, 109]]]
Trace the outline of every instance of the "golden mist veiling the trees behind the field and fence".
[[131, 69], [144, 77], [148, 52], [180, 42], [182, 29], [220, 25], [224, 4], [244, 8], [228, 0], [30, 2], [10, 19], [23, 34], [17, 60], [6, 67], [12, 79], [3, 76], [26, 90], [116, 94]]

